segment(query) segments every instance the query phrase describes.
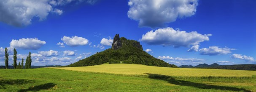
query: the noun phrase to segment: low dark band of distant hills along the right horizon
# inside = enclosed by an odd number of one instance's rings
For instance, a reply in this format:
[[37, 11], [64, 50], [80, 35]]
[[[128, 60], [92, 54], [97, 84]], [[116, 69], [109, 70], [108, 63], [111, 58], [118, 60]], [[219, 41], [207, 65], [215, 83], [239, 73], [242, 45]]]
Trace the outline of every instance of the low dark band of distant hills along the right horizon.
[[197, 66], [182, 65], [180, 68], [207, 68], [207, 69], [232, 69], [232, 70], [256, 70], [256, 64], [219, 65], [217, 63], [199, 64]]

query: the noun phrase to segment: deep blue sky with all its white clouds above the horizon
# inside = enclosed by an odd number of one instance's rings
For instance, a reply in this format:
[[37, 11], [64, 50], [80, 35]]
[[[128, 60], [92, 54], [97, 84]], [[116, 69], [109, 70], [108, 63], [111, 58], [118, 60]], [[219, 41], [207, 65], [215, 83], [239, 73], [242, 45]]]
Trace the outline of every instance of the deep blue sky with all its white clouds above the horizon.
[[[1, 0], [0, 64], [32, 53], [32, 65], [68, 65], [111, 48], [113, 36], [140, 41], [170, 64], [256, 64], [255, 0]], [[59, 43], [59, 45], [57, 45]], [[95, 45], [95, 46], [94, 46]], [[147, 50], [148, 49], [148, 50]]]

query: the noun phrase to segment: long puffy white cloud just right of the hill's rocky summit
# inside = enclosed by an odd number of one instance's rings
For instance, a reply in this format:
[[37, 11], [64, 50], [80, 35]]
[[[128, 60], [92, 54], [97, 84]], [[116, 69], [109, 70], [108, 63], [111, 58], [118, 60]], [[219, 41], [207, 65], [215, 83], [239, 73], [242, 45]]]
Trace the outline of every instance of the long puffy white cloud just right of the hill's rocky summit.
[[186, 31], [174, 30], [173, 28], [159, 28], [156, 31], [149, 31], [142, 35], [140, 41], [150, 45], [189, 47], [196, 46], [200, 42], [209, 41], [211, 34], [199, 34], [197, 31], [187, 33]]

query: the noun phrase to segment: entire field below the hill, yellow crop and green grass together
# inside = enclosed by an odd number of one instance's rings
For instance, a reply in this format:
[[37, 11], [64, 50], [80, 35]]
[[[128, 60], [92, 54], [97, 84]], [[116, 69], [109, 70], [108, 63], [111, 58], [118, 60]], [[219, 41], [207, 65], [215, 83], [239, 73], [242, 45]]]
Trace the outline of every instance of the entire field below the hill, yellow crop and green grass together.
[[256, 71], [139, 64], [0, 69], [0, 92], [27, 91], [256, 92]]

